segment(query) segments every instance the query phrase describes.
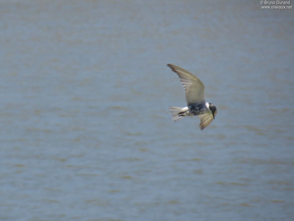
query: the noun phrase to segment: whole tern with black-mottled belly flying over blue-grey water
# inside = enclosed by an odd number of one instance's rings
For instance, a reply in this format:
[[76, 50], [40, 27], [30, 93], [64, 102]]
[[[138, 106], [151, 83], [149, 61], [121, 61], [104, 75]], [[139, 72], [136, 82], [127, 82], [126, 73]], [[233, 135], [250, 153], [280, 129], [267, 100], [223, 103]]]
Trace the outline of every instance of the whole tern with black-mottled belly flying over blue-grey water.
[[213, 103], [204, 100], [204, 84], [198, 77], [176, 65], [168, 64], [168, 67], [175, 72], [185, 89], [187, 106], [184, 108], [170, 107], [171, 117], [176, 123], [184, 118], [184, 116], [196, 116], [200, 118], [199, 127], [201, 130], [206, 128], [216, 116], [217, 109]]

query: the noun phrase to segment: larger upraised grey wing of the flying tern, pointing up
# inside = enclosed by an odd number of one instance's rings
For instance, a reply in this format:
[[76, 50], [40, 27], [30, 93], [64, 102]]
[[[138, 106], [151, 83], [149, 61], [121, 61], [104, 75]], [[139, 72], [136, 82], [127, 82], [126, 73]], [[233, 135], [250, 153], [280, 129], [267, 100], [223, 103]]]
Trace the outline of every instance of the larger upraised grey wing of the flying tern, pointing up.
[[175, 72], [185, 88], [187, 106], [195, 103], [205, 102], [204, 100], [204, 84], [198, 77], [176, 65], [168, 64], [168, 67]]

